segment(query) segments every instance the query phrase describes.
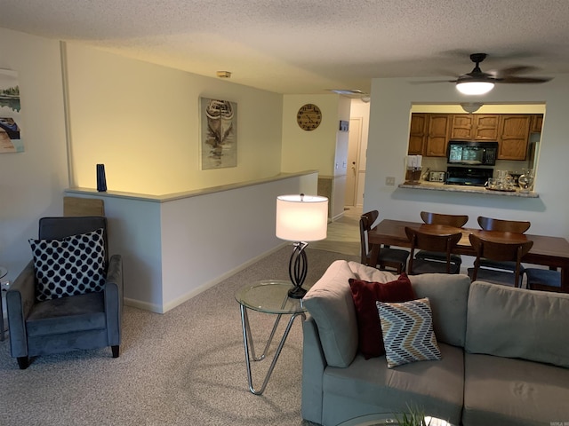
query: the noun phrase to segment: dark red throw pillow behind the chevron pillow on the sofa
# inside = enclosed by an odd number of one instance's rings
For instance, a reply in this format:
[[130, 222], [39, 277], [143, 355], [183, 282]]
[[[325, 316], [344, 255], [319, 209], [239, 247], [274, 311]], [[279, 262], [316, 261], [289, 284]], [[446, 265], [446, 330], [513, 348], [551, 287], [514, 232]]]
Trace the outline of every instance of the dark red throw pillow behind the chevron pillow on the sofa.
[[408, 302], [416, 299], [411, 281], [404, 272], [397, 280], [384, 283], [350, 278], [349, 287], [356, 306], [359, 350], [365, 359], [380, 357], [385, 349], [375, 302]]

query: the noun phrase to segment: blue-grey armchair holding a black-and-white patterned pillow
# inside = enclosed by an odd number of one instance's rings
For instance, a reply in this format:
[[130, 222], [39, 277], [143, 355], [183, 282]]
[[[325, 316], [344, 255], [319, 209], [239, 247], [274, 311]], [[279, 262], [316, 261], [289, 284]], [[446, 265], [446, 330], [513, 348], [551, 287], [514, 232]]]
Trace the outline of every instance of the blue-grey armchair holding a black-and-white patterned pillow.
[[49, 300], [38, 293], [34, 260], [6, 293], [12, 358], [21, 369], [30, 357], [110, 346], [119, 356], [123, 312], [123, 263], [120, 255], [108, 258], [106, 217], [43, 217], [39, 240], [63, 241], [66, 237], [102, 228], [104, 280], [102, 291]]

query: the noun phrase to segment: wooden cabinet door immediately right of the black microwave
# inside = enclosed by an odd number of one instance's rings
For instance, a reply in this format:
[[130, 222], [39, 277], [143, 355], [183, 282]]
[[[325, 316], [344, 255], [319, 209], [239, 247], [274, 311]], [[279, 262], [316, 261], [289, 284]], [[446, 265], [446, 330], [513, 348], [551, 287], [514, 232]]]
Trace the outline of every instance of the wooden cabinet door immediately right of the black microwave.
[[531, 121], [531, 115], [501, 115], [499, 160], [525, 160]]

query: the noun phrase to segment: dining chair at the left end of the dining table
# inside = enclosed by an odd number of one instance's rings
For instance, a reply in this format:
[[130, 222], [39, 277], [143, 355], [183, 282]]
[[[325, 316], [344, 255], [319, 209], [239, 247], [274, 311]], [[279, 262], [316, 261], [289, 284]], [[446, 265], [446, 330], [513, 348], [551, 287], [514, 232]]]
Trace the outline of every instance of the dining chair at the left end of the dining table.
[[359, 219], [359, 237], [361, 241], [361, 263], [374, 268], [385, 270], [394, 269], [397, 273], [405, 272], [409, 251], [401, 248], [379, 247], [380, 253], [377, 264], [372, 264], [372, 247], [368, 241], [368, 233], [372, 231], [372, 226], [379, 217], [377, 210], [364, 213]]

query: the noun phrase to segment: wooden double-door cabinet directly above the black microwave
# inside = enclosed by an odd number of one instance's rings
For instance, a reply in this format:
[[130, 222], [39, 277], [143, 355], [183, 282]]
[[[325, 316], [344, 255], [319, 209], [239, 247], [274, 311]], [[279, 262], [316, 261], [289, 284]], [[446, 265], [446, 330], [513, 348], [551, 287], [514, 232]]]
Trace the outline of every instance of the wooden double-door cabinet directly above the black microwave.
[[452, 114], [451, 139], [498, 140], [499, 114]]

